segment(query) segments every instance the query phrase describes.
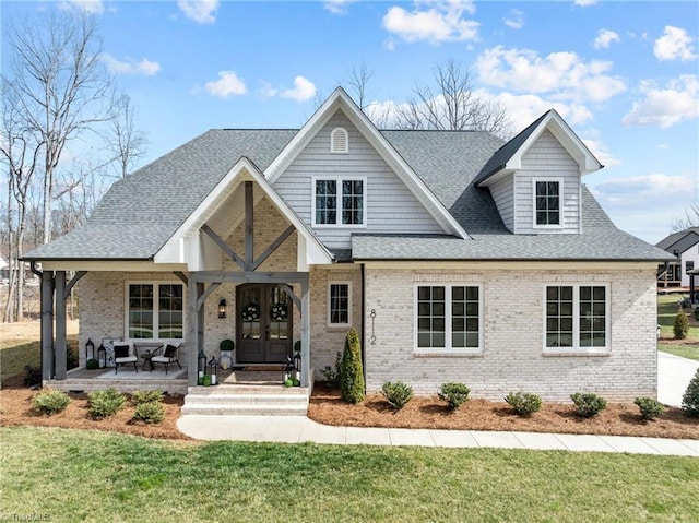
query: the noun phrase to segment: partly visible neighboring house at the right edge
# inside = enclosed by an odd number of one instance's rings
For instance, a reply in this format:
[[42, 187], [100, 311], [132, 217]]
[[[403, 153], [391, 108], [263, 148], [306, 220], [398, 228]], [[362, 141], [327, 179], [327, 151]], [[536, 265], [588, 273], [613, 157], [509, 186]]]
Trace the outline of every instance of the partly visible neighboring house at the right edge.
[[674, 233], [655, 246], [673, 255], [657, 268], [659, 287], [689, 287], [689, 271], [699, 269], [699, 227]]

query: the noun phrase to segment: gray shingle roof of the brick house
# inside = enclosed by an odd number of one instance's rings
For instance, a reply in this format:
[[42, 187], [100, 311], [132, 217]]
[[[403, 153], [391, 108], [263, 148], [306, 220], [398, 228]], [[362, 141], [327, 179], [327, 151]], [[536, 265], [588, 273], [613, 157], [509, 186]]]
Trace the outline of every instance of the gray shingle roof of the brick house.
[[[535, 123], [530, 127], [533, 129]], [[25, 259], [152, 259], [241, 156], [264, 170], [297, 132], [208, 131], [115, 183], [82, 228], [35, 249]], [[512, 235], [505, 227], [489, 190], [474, 182], [484, 166], [505, 155], [509, 146], [502, 146], [499, 139], [486, 132], [382, 131], [382, 134], [474, 240], [357, 235], [353, 239], [355, 259], [667, 258], [666, 253], [618, 230], [587, 189], [582, 235]], [[521, 135], [513, 140], [520, 140]]]

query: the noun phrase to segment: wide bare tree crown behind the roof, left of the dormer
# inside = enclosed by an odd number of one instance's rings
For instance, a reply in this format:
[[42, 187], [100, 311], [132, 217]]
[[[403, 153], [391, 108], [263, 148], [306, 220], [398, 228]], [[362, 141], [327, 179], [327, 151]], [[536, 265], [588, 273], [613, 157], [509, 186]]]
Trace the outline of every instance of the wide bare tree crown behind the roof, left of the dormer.
[[399, 106], [400, 128], [510, 132], [505, 108], [477, 96], [467, 68], [448, 60], [435, 66], [434, 80], [435, 86], [416, 86], [414, 97]]

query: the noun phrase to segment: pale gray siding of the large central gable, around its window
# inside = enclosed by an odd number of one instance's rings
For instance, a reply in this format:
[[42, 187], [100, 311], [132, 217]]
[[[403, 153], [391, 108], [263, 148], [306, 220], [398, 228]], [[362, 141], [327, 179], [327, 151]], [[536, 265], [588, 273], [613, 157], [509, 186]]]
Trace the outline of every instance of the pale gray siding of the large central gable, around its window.
[[[336, 127], [346, 129], [348, 133], [348, 153], [330, 152], [330, 133]], [[312, 178], [342, 176], [366, 177], [365, 226], [313, 226]], [[311, 139], [273, 187], [330, 249], [351, 248], [353, 233], [443, 233], [435, 218], [341, 110]]]

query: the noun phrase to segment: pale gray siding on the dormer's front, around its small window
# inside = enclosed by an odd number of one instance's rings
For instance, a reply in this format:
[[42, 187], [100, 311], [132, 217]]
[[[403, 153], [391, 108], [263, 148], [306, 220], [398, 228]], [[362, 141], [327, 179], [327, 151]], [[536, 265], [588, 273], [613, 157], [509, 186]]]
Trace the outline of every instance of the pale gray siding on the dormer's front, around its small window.
[[[561, 227], [534, 227], [533, 180], [542, 178], [562, 180]], [[544, 131], [522, 156], [522, 168], [514, 173], [513, 189], [516, 234], [580, 233], [580, 168], [550, 131]]]

